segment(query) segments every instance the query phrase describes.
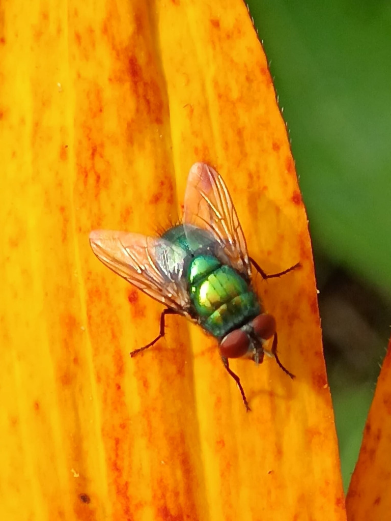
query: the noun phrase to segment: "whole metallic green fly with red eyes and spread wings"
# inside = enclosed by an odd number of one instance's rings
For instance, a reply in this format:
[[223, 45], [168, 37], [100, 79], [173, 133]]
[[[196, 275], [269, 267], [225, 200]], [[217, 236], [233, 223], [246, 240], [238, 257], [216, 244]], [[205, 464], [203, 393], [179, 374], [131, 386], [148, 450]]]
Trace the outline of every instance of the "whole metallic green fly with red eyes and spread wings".
[[[227, 187], [210, 166], [195, 163], [191, 167], [181, 224], [161, 237], [94, 230], [90, 243], [103, 264], [166, 306], [159, 334], [132, 351], [132, 357], [164, 337], [166, 315], [177, 314], [217, 339], [224, 367], [236, 381], [248, 411], [245, 391], [229, 367], [229, 358], [249, 358], [258, 365], [267, 354], [295, 378], [278, 358], [276, 321], [264, 312], [253, 290], [251, 264], [263, 279], [285, 275], [300, 264], [266, 275], [249, 257]], [[271, 339], [271, 350], [265, 350]]]

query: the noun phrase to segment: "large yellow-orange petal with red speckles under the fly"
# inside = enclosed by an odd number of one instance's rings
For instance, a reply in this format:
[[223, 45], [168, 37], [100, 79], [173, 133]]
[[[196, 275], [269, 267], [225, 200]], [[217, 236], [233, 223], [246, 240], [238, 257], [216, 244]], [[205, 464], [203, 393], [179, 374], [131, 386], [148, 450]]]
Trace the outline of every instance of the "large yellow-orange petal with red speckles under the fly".
[[[0, 518], [344, 520], [307, 218], [239, 0], [0, 5]], [[97, 261], [91, 229], [180, 216], [223, 176], [279, 355], [233, 361]]]

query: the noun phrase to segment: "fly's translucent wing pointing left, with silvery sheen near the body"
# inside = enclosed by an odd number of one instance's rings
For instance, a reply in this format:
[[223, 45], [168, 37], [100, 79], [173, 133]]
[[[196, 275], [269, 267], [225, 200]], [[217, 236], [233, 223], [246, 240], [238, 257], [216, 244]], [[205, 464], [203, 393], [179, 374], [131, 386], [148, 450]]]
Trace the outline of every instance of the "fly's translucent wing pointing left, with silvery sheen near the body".
[[158, 302], [187, 315], [186, 252], [162, 238], [124, 231], [94, 230], [92, 251], [108, 268]]

